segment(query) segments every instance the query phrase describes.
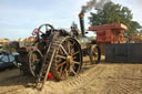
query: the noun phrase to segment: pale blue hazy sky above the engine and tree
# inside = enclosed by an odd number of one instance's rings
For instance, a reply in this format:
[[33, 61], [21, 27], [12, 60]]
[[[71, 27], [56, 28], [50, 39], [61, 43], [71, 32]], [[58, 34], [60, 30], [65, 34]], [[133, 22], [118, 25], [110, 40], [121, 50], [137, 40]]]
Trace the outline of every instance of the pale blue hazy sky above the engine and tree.
[[[80, 27], [78, 14], [87, 1], [89, 0], [0, 0], [0, 39], [30, 36], [33, 29], [43, 23], [51, 23], [55, 29], [68, 29], [74, 21]], [[112, 1], [132, 10], [133, 20], [142, 25], [142, 0]], [[85, 14], [85, 29], [89, 27], [89, 14], [90, 12]]]

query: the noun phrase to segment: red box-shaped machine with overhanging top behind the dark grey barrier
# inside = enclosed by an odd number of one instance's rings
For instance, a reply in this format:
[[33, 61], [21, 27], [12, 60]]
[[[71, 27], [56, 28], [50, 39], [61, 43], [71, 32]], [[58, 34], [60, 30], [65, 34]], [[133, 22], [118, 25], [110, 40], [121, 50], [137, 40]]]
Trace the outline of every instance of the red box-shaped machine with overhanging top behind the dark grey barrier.
[[89, 27], [90, 31], [97, 32], [97, 43], [123, 43], [124, 30], [128, 28], [122, 23], [102, 24]]

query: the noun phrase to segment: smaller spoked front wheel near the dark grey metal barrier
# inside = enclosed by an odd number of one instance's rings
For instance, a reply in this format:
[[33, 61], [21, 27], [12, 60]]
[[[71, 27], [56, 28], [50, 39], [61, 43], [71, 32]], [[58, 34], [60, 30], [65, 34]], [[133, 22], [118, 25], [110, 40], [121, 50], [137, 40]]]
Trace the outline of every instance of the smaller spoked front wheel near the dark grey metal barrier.
[[100, 48], [97, 45], [92, 45], [90, 49], [90, 61], [92, 64], [98, 64], [101, 60]]

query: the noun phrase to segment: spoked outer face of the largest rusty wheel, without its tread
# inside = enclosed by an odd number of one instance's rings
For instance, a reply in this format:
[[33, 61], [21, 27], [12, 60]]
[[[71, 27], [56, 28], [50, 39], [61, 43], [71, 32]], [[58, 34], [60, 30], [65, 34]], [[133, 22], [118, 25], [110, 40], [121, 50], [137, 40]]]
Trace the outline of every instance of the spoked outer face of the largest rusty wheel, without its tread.
[[72, 74], [75, 75], [80, 70], [81, 63], [81, 50], [79, 44], [72, 39], [62, 41], [55, 56], [59, 75], [62, 77]]

